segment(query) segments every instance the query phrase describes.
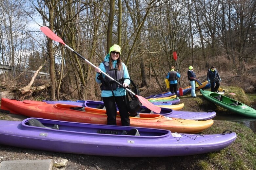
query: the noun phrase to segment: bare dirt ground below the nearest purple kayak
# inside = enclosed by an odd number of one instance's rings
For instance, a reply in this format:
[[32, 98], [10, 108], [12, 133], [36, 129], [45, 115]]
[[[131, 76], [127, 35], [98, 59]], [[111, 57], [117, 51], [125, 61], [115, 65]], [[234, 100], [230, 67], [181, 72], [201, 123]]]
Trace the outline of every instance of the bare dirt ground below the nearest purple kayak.
[[[38, 151], [24, 148], [0, 145], [0, 161], [8, 160], [36, 160], [53, 159], [53, 161], [68, 160], [66, 170], [171, 170], [197, 169], [196, 161], [204, 159], [206, 155], [183, 157], [106, 157], [79, 154]], [[55, 168], [57, 169], [57, 168]]]

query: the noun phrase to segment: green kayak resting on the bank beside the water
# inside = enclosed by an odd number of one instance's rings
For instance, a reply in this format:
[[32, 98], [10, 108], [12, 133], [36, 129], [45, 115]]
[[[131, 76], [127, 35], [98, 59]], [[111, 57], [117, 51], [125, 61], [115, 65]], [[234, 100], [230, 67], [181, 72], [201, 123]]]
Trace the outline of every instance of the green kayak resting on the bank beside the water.
[[224, 95], [218, 94], [218, 93], [213, 93], [210, 91], [205, 91], [200, 89], [200, 93], [203, 94], [203, 96], [215, 103], [216, 105], [219, 105], [227, 110], [230, 110], [232, 112], [248, 116], [248, 117], [256, 117], [256, 110], [243, 104], [240, 103], [234, 99], [231, 99], [229, 97], [226, 97]]

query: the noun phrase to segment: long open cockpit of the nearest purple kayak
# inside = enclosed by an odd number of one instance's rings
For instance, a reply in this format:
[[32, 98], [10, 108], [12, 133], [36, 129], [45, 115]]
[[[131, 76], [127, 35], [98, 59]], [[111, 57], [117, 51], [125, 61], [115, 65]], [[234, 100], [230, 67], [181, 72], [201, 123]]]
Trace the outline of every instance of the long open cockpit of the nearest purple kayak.
[[65, 131], [70, 133], [90, 133], [95, 135], [130, 135], [142, 137], [165, 137], [170, 135], [169, 130], [163, 129], [148, 129], [141, 127], [123, 127], [123, 126], [109, 126], [96, 125], [86, 123], [75, 123], [48, 120], [41, 118], [28, 118], [22, 121], [22, 126], [27, 128], [35, 128], [45, 130]]

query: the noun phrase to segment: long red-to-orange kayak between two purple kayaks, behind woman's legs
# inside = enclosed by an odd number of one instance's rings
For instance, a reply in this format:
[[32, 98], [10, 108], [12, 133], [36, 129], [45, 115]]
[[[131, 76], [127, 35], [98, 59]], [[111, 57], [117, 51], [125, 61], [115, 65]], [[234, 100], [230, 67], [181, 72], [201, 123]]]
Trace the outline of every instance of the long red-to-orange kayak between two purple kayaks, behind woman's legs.
[[[77, 108], [67, 104], [47, 104], [46, 102], [24, 100], [17, 101], [2, 98], [1, 109], [10, 113], [28, 117], [82, 122], [91, 124], [107, 124], [106, 110], [85, 108], [85, 111], [72, 110]], [[117, 125], [121, 125], [120, 116], [116, 118]], [[130, 126], [167, 129], [178, 133], [198, 133], [213, 124], [213, 120], [186, 120], [169, 118], [158, 114], [140, 114], [140, 117], [130, 117]]]

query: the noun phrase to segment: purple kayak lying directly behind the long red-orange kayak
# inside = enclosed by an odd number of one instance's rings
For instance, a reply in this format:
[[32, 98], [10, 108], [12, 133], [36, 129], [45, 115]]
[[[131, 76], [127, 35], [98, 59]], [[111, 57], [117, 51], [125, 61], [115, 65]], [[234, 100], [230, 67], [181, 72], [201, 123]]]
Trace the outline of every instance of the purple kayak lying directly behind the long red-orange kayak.
[[[102, 101], [92, 101], [92, 100], [86, 100], [84, 103], [80, 102], [72, 102], [72, 101], [49, 101], [49, 100], [43, 100], [43, 102], [49, 103], [49, 104], [71, 104], [79, 107], [89, 107], [89, 108], [97, 108], [97, 109], [105, 109], [104, 103]], [[118, 110], [118, 108], [117, 108]], [[155, 113], [145, 106], [142, 106], [141, 109], [138, 111], [138, 113], [152, 113], [152, 114], [158, 114]], [[172, 117], [172, 118], [181, 118], [181, 119], [188, 119], [188, 120], [208, 120], [212, 119], [214, 116], [216, 116], [216, 112], [209, 110], [207, 112], [190, 112], [190, 111], [180, 111], [180, 110], [172, 110], [168, 108], [161, 108], [161, 112], [159, 113], [163, 116]]]

